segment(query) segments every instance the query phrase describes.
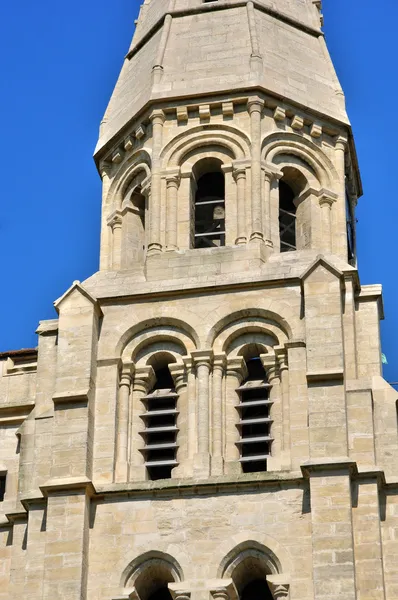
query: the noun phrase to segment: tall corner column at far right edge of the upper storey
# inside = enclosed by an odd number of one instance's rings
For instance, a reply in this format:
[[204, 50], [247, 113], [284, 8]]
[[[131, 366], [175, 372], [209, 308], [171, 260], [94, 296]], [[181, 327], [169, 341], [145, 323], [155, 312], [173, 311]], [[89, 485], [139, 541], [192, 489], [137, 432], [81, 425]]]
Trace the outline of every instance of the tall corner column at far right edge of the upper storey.
[[338, 173], [338, 201], [334, 218], [332, 221], [332, 240], [333, 254], [337, 254], [343, 260], [347, 260], [347, 223], [346, 223], [346, 208], [345, 208], [345, 152], [347, 148], [347, 139], [339, 136], [335, 146], [336, 169]]

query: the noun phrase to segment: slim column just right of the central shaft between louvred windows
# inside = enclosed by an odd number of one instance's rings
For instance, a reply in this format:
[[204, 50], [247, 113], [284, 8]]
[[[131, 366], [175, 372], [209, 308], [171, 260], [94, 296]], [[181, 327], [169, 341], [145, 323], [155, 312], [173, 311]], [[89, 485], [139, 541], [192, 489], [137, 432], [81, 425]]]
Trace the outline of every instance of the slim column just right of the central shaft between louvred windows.
[[222, 475], [224, 472], [223, 457], [223, 377], [225, 372], [225, 354], [214, 357], [213, 364], [213, 447], [211, 474]]

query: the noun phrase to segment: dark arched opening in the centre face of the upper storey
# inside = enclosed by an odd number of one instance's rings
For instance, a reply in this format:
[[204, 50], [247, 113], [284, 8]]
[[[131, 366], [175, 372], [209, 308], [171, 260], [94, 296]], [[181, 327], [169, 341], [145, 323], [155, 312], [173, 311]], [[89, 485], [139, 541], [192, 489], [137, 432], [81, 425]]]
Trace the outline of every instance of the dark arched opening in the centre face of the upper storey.
[[225, 181], [220, 171], [205, 173], [195, 195], [195, 248], [225, 246]]

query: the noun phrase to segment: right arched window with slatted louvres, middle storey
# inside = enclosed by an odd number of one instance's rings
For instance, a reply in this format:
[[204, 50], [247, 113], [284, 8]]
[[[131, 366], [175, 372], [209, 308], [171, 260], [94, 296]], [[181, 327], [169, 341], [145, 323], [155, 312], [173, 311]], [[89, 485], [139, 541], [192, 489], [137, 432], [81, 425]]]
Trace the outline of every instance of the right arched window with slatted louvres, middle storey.
[[244, 473], [267, 470], [271, 454], [270, 385], [259, 356], [246, 359], [248, 377], [238, 388], [240, 462]]

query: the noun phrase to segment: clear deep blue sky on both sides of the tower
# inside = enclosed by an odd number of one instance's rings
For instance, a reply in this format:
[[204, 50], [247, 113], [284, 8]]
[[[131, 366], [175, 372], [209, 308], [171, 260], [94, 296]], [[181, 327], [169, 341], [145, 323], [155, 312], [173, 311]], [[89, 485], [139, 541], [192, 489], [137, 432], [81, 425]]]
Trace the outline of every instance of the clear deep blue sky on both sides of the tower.
[[[134, 29], [137, 0], [16, 0], [2, 7], [0, 351], [36, 345], [53, 301], [98, 268], [98, 127]], [[386, 378], [398, 381], [396, 0], [324, 0], [364, 185], [362, 284], [382, 283]]]

